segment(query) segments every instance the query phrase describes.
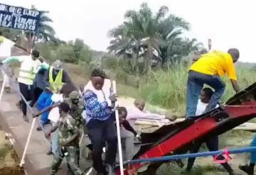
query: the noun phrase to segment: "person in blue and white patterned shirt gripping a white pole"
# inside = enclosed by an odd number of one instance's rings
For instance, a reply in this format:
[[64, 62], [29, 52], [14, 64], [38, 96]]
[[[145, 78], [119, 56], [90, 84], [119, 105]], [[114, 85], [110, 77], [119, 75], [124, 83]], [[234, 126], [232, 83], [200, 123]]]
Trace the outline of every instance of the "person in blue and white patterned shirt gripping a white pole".
[[[92, 160], [97, 174], [114, 174], [114, 161], [117, 154], [117, 130], [112, 115], [116, 94], [105, 96], [102, 91], [106, 74], [102, 69], [92, 69], [92, 86], [83, 94], [86, 111], [86, 125], [93, 145]], [[102, 162], [102, 148], [107, 142], [105, 166]]]

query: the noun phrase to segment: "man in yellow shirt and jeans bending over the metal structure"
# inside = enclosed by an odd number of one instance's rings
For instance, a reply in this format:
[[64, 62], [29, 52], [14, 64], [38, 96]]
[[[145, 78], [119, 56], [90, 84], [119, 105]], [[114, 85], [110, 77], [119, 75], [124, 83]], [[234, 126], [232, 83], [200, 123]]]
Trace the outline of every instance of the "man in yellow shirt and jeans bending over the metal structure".
[[186, 118], [196, 115], [198, 97], [203, 84], [215, 90], [206, 107], [206, 112], [213, 110], [223, 96], [225, 83], [220, 79], [221, 76], [228, 74], [235, 91], [240, 91], [234, 65], [239, 55], [238, 49], [235, 48], [229, 49], [228, 52], [208, 52], [191, 65], [187, 82]]

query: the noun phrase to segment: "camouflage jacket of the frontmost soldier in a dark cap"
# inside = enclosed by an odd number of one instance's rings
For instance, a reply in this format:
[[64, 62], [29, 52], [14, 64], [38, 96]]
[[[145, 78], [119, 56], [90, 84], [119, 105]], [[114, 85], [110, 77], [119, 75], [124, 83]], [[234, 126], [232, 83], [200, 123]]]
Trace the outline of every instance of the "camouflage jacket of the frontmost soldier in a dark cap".
[[[79, 129], [75, 119], [68, 115], [63, 120], [58, 120], [59, 144], [63, 146], [77, 146], [79, 143]], [[77, 135], [75, 139], [74, 135]]]

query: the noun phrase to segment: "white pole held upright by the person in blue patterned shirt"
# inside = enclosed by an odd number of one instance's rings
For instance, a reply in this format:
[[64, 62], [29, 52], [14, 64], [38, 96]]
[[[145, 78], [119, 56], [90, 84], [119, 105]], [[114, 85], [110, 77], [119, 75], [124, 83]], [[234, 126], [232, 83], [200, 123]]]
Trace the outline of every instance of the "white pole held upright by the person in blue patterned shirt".
[[[113, 81], [113, 91], [114, 94], [117, 94], [117, 84], [116, 81]], [[119, 166], [120, 166], [120, 174], [124, 175], [124, 164], [122, 159], [122, 144], [121, 144], [121, 136], [120, 136], [120, 125], [119, 125], [119, 115], [118, 115], [118, 103], [115, 102], [115, 118], [117, 123], [117, 142], [118, 142], [118, 153], [119, 153]]]

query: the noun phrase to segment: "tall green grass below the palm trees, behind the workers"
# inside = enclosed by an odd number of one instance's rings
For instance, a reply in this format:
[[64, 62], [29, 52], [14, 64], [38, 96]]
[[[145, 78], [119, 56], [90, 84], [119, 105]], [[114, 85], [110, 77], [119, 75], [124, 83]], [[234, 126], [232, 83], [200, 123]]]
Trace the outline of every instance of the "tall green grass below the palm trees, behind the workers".
[[[85, 79], [90, 76], [92, 67], [82, 64], [65, 64], [69, 72], [78, 74]], [[238, 65], [238, 83], [245, 88], [256, 81], [256, 70]], [[117, 92], [119, 96], [133, 98], [144, 98], [147, 103], [161, 108], [169, 109], [172, 113], [183, 115], [186, 108], [186, 81], [188, 77], [188, 66], [175, 64], [168, 70], [151, 71], [140, 78], [139, 89], [134, 86], [136, 77], [125, 74], [124, 71], [116, 72], [107, 69], [107, 74], [117, 80]], [[119, 75], [122, 74], [120, 77]], [[125, 80], [125, 81], [124, 81]], [[225, 102], [235, 94], [227, 77], [223, 80], [226, 84], [225, 93], [221, 102]]]

